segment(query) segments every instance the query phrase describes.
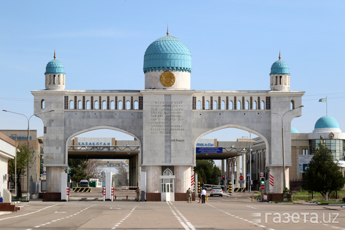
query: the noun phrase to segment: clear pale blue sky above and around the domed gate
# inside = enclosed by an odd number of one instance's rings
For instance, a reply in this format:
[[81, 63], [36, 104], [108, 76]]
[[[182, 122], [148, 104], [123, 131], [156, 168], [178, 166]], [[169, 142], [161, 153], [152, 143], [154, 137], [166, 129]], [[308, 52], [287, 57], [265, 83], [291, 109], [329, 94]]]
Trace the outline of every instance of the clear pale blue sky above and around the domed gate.
[[[305, 91], [302, 116], [310, 133], [334, 117], [345, 131], [344, 1], [2, 1], [0, 109], [33, 114], [31, 90], [45, 88], [45, 67], [57, 59], [66, 89], [143, 89], [146, 48], [169, 33], [192, 54], [195, 90], [268, 90], [271, 64], [290, 67], [290, 89]], [[0, 112], [0, 129], [26, 129], [23, 116]], [[43, 122], [30, 129], [43, 135]], [[248, 132], [225, 130], [229, 140]]]

